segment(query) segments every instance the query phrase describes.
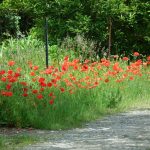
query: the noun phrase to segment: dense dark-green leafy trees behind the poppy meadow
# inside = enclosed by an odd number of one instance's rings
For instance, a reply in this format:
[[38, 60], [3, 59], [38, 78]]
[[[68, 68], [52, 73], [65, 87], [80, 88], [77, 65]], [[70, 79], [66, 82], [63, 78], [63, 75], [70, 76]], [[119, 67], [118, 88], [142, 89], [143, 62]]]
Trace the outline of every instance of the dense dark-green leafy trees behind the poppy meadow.
[[149, 0], [0, 0], [0, 42], [31, 35], [49, 44], [82, 35], [112, 54], [150, 52]]

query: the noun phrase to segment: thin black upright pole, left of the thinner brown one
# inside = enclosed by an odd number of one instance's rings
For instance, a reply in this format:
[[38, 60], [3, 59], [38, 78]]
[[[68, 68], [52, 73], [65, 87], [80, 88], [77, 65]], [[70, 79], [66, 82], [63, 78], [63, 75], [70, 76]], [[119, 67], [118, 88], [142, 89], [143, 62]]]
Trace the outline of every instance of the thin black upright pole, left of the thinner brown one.
[[48, 68], [48, 22], [45, 17], [45, 54], [46, 54], [46, 68]]

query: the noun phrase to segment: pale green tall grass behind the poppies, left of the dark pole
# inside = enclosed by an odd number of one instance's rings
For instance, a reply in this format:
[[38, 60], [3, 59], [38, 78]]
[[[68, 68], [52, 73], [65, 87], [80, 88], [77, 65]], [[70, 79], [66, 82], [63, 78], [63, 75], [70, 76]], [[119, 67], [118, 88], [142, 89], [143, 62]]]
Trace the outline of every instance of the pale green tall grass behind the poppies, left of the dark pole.
[[0, 46], [2, 65], [8, 60], [15, 59], [15, 61], [23, 66], [27, 61], [33, 61], [34, 63], [44, 64], [45, 53], [44, 44], [38, 39], [34, 39], [31, 36], [20, 39], [8, 39]]

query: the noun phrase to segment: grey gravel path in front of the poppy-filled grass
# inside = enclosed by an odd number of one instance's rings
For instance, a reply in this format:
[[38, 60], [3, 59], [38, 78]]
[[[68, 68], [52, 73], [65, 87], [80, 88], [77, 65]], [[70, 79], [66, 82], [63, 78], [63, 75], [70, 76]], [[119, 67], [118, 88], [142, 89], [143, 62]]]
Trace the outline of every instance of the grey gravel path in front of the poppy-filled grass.
[[40, 131], [47, 142], [24, 150], [150, 150], [150, 110], [107, 116], [67, 131]]

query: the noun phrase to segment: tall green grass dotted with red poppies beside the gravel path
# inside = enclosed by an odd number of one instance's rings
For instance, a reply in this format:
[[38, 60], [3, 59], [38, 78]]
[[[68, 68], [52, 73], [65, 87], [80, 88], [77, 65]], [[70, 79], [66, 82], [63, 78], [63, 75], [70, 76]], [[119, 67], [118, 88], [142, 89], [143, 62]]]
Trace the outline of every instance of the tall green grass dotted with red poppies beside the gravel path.
[[0, 124], [4, 126], [66, 129], [150, 100], [148, 61], [144, 66], [140, 60], [127, 66], [121, 59], [81, 63], [62, 55], [59, 63], [52, 60], [46, 69], [44, 45], [30, 37], [8, 40], [2, 51]]

